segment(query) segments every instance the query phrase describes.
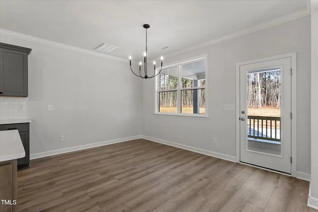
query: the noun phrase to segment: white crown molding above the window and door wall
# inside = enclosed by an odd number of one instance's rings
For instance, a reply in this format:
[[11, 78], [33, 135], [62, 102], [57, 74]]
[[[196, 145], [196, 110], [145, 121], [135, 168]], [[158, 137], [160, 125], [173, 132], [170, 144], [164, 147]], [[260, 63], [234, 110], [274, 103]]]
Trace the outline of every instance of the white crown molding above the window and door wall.
[[257, 32], [257, 31], [260, 31], [260, 30], [263, 30], [263, 29], [267, 29], [267, 28], [270, 28], [270, 27], [273, 27], [273, 26], [276, 26], [276, 25], [279, 25], [279, 24], [282, 24], [282, 23], [286, 23], [286, 22], [289, 22], [289, 21], [292, 21], [292, 20], [296, 20], [296, 19], [308, 16], [310, 14], [311, 14], [310, 9], [306, 8], [306, 9], [300, 10], [300, 11], [295, 12], [295, 13], [291, 13], [291, 14], [288, 14], [288, 15], [285, 15], [285, 16], [282, 16], [282, 17], [279, 17], [279, 18], [276, 18], [276, 19], [273, 19], [273, 20], [270, 20], [270, 21], [255, 25], [255, 26], [251, 26], [251, 27], [239, 30], [239, 31], [231, 33], [231, 34], [227, 34], [227, 35], [212, 39], [212, 40], [210, 40], [208, 42], [204, 42], [204, 43], [192, 46], [190, 48], [174, 52], [174, 53], [172, 53], [170, 55], [165, 56], [165, 58], [175, 57], [175, 56], [182, 55], [182, 54], [188, 53], [188, 52], [192, 52], [192, 51], [204, 48], [204, 47], [212, 46], [214, 44], [222, 43], [224, 41], [228, 41], [228, 40], [231, 40], [231, 39], [234, 39], [234, 38], [238, 38], [238, 37], [241, 37], [241, 36], [244, 36], [244, 35], [248, 35], [248, 34], [251, 34], [253, 32]]

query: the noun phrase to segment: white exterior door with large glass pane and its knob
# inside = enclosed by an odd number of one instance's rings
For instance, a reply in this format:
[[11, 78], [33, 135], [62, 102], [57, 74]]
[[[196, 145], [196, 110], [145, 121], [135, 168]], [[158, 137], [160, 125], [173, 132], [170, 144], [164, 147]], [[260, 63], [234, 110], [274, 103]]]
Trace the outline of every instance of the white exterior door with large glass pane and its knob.
[[291, 57], [239, 67], [240, 161], [291, 174]]

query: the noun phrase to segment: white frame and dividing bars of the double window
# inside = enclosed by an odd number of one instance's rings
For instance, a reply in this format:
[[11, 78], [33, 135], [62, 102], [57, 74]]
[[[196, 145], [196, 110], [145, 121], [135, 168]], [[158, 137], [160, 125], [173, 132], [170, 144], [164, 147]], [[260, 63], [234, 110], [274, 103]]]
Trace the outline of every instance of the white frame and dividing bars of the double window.
[[[181, 80], [181, 66], [186, 64], [195, 63], [198, 61], [205, 61], [205, 86], [200, 87], [189, 87], [189, 88], [182, 88], [182, 80]], [[156, 76], [156, 83], [155, 83], [155, 115], [168, 115], [168, 116], [186, 116], [186, 117], [208, 117], [208, 56], [202, 55], [195, 58], [183, 60], [177, 63], [173, 63], [167, 66], [162, 67], [163, 69], [167, 68], [177, 68], [177, 75], [178, 75], [178, 86], [177, 89], [169, 89], [169, 90], [160, 90], [160, 91], [177, 91], [177, 112], [176, 113], [164, 113], [159, 112], [159, 75]], [[158, 70], [156, 70], [158, 71]], [[190, 113], [181, 113], [181, 91], [182, 90], [194, 90], [194, 89], [202, 89], [205, 88], [205, 114], [190, 114]]]

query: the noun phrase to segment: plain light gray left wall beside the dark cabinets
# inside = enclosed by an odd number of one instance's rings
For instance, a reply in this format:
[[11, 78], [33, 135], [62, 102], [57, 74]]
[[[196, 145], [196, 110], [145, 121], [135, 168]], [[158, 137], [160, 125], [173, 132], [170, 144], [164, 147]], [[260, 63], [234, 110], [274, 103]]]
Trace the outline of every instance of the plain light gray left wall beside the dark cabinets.
[[141, 80], [128, 63], [2, 35], [1, 42], [32, 49], [30, 154], [140, 135]]

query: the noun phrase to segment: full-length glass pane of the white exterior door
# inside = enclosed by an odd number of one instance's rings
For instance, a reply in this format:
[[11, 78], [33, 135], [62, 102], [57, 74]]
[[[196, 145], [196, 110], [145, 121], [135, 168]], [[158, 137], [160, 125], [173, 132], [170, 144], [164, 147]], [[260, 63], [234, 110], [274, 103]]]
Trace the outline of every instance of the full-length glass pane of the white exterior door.
[[247, 150], [281, 155], [281, 70], [247, 73]]

